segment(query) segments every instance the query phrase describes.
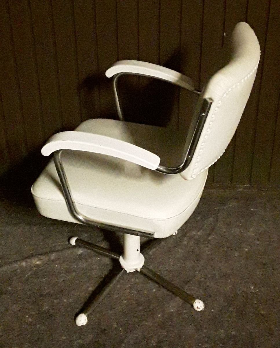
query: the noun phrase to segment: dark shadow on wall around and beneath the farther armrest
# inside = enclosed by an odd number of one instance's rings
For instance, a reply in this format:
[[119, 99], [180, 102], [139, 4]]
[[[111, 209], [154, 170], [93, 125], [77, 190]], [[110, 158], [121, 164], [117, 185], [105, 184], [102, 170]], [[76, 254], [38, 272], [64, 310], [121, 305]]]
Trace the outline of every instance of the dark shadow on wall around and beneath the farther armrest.
[[[163, 66], [180, 71], [180, 60], [180, 52], [175, 50]], [[85, 110], [87, 118], [96, 118], [92, 101], [93, 91], [98, 92], [101, 98], [109, 97], [108, 105], [103, 106], [106, 110], [102, 110], [101, 105], [100, 118], [117, 118], [112, 81], [113, 79], [108, 79], [105, 73], [94, 73], [87, 76], [80, 84], [82, 109]], [[118, 93], [124, 119], [147, 125], [167, 126], [171, 121], [177, 91], [178, 87], [157, 79], [132, 75], [121, 76], [118, 81]], [[176, 115], [173, 116], [176, 117]]]

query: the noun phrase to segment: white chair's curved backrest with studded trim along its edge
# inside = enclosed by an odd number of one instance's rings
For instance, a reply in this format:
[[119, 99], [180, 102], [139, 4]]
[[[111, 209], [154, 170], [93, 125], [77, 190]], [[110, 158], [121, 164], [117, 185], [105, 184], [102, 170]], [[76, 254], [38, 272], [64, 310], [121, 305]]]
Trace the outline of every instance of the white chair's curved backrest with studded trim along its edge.
[[[216, 72], [204, 87], [196, 109], [203, 98], [213, 103], [190, 165], [181, 173], [191, 180], [214, 164], [230, 143], [248, 101], [255, 80], [260, 45], [251, 27], [240, 22], [233, 30], [229, 63]], [[195, 116], [196, 116], [195, 114]], [[193, 117], [196, 122], [196, 117]]]

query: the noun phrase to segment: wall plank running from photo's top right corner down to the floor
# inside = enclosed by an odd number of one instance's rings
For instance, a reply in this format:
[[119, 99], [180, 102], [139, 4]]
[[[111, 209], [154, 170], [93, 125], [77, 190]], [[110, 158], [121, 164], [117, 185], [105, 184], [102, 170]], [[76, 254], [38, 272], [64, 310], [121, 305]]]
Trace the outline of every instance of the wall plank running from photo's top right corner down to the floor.
[[[263, 54], [260, 99], [257, 110], [252, 183], [266, 184], [270, 180], [274, 127], [278, 112], [280, 90], [279, 2], [272, 0]], [[278, 47], [278, 49], [275, 49]], [[275, 152], [274, 152], [275, 153]], [[280, 171], [280, 168], [279, 168]]]

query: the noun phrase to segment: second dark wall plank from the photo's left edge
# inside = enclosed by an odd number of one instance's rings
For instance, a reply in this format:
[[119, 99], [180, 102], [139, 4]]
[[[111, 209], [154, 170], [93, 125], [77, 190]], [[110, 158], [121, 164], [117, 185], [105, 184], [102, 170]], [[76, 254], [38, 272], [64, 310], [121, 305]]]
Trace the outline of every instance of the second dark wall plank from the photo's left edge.
[[39, 148], [44, 141], [42, 106], [37, 62], [32, 35], [28, 1], [9, 1], [14, 37], [17, 73], [28, 151]]

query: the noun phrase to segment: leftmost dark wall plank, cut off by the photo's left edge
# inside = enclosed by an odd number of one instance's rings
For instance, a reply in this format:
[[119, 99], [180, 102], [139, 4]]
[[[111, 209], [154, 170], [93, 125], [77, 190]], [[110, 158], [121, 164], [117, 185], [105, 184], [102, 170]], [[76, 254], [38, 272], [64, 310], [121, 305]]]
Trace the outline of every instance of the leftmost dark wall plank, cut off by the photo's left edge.
[[17, 78], [17, 66], [14, 52], [14, 39], [10, 26], [8, 7], [0, 1], [0, 90], [2, 111], [5, 124], [1, 127], [6, 133], [9, 160], [11, 166], [16, 165], [26, 155], [26, 138], [22, 104]]

